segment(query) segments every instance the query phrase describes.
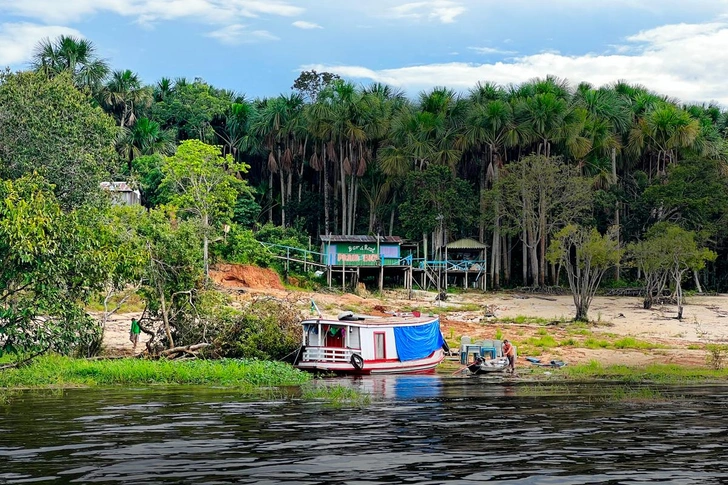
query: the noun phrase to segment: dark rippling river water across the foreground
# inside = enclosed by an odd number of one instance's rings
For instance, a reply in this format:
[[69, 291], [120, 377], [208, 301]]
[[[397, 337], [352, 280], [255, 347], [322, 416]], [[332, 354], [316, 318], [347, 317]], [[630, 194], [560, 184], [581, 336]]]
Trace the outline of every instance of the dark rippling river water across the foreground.
[[[728, 483], [728, 386], [340, 380], [361, 407], [234, 390], [26, 392], [0, 404], [0, 483]], [[612, 396], [611, 398], [609, 396]]]

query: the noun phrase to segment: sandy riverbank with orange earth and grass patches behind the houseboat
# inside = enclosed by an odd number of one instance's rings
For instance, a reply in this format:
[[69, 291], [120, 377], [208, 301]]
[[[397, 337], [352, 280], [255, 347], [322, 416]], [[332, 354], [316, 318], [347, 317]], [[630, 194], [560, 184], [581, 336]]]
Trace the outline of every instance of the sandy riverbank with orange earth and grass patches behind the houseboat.
[[[261, 274], [258, 274], [261, 273]], [[311, 292], [281, 289], [268, 283], [277, 277], [270, 270], [236, 266], [229, 275], [215, 280], [236, 305], [260, 296], [279, 298], [310, 314], [316, 301], [327, 315], [348, 310], [384, 315], [384, 312], [419, 310], [441, 316], [443, 335], [453, 348], [463, 337], [472, 340], [508, 338], [521, 357], [544, 361], [563, 360], [570, 365], [592, 361], [603, 366], [644, 367], [651, 364], [678, 364], [706, 367], [710, 345], [728, 344], [728, 297], [689, 296], [684, 318], [677, 320], [675, 305], [655, 304], [645, 310], [638, 297], [597, 296], [589, 316], [591, 322], [573, 323], [570, 295], [534, 295], [519, 292], [457, 291], [445, 301], [436, 301], [435, 292], [385, 290], [372, 294], [360, 288], [358, 295], [336, 290]], [[139, 313], [113, 315], [106, 326], [104, 353], [131, 355], [129, 325]], [[148, 338], [141, 336], [137, 350]], [[728, 360], [728, 359], [727, 359]]]

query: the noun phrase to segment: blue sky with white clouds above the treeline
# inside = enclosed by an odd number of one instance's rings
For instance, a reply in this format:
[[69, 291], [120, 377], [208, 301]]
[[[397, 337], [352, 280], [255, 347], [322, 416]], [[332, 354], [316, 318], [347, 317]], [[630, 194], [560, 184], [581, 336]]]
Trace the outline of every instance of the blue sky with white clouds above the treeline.
[[62, 34], [146, 83], [248, 98], [315, 69], [413, 97], [554, 75], [728, 107], [728, 0], [0, 0], [0, 66]]

